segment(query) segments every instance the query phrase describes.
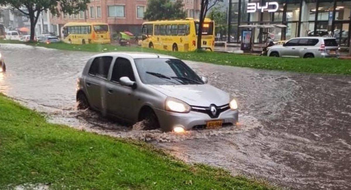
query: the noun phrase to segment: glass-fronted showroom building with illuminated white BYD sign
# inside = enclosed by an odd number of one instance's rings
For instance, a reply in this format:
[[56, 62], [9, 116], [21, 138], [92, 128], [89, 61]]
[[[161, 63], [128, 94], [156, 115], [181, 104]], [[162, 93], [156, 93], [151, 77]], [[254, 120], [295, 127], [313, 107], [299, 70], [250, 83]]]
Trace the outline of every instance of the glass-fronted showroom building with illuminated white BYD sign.
[[286, 28], [253, 27], [254, 43], [303, 36], [333, 36], [340, 46], [350, 46], [351, 0], [229, 0], [228, 42], [240, 42], [243, 25], [286, 25]]

